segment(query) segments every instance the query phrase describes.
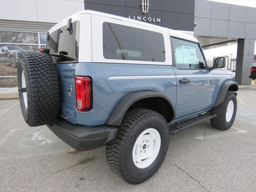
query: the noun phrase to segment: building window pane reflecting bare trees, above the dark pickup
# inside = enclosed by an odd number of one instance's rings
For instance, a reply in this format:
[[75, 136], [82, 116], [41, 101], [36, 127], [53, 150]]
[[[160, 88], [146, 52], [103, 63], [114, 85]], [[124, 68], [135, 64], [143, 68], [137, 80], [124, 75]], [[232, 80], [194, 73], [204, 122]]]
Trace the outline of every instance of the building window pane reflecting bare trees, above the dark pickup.
[[0, 42], [38, 44], [38, 33], [0, 31]]

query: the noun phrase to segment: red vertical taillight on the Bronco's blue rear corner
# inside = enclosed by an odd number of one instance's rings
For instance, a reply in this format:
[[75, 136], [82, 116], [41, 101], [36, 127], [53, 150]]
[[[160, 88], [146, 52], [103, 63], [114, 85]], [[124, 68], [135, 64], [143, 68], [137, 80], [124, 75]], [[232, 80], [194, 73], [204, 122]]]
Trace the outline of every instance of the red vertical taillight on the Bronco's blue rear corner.
[[76, 77], [76, 108], [79, 111], [92, 109], [92, 80], [90, 77]]

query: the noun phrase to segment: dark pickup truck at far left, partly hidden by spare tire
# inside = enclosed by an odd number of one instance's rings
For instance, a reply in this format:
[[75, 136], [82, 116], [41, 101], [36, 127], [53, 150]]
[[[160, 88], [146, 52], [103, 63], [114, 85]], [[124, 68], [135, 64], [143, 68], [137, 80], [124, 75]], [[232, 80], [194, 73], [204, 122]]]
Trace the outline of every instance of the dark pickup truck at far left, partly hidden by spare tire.
[[30, 52], [32, 50], [24, 50], [19, 46], [4, 46], [0, 48], [0, 62], [10, 62], [14, 68], [17, 67], [18, 58], [22, 52]]

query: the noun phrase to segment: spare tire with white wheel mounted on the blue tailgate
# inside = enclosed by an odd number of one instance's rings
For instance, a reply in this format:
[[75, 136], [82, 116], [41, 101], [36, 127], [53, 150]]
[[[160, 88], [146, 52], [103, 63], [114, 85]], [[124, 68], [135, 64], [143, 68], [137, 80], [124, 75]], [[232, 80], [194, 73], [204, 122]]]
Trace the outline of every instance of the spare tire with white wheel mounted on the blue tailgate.
[[18, 60], [18, 92], [24, 120], [29, 126], [51, 124], [58, 115], [60, 88], [52, 57], [24, 52]]

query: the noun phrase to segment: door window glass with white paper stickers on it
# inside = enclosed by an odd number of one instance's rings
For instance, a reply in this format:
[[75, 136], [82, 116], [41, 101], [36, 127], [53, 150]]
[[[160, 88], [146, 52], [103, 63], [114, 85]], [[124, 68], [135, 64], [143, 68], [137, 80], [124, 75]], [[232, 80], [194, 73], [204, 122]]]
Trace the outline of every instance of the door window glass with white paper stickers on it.
[[205, 69], [204, 57], [199, 44], [172, 38], [175, 66], [178, 69]]

